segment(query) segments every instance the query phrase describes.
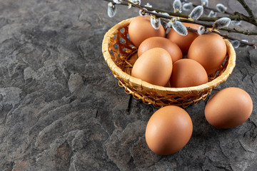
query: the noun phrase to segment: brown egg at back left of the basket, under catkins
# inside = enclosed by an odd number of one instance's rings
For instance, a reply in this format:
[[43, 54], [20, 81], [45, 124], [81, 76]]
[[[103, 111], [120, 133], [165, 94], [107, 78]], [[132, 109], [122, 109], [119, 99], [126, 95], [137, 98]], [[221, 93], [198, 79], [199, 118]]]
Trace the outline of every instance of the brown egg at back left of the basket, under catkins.
[[150, 16], [137, 16], [129, 24], [129, 37], [133, 45], [138, 48], [142, 41], [150, 37], [165, 37], [166, 33], [161, 26], [158, 30], [153, 28], [150, 23]]

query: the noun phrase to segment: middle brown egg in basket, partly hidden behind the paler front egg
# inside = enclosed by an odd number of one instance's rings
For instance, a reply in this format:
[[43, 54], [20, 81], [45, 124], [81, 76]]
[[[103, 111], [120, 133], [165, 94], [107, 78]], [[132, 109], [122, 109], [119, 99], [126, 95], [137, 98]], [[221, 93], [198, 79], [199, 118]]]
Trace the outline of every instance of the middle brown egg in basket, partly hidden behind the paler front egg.
[[170, 54], [173, 63], [183, 57], [181, 49], [176, 45], [176, 43], [173, 43], [168, 40], [168, 38], [163, 37], [151, 37], [144, 40], [138, 47], [138, 57], [151, 48], [164, 48]]

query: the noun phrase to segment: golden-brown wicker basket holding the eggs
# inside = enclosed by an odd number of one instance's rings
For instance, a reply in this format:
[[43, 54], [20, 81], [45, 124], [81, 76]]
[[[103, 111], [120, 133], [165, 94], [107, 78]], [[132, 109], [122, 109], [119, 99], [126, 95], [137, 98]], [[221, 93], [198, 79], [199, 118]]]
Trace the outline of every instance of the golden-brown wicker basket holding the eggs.
[[[132, 18], [133, 19], [133, 18]], [[129, 24], [131, 19], [126, 19], [116, 24], [104, 36], [102, 51], [114, 77], [118, 78], [119, 86], [125, 92], [132, 94], [133, 98], [143, 100], [143, 103], [153, 104], [156, 108], [165, 105], [178, 105], [186, 108], [199, 100], [205, 100], [211, 90], [226, 81], [236, 66], [236, 53], [231, 43], [225, 39], [227, 55], [218, 71], [208, 76], [208, 83], [189, 88], [168, 88], [155, 86], [151, 83], [131, 76], [133, 63], [138, 58], [137, 48], [129, 39]]]

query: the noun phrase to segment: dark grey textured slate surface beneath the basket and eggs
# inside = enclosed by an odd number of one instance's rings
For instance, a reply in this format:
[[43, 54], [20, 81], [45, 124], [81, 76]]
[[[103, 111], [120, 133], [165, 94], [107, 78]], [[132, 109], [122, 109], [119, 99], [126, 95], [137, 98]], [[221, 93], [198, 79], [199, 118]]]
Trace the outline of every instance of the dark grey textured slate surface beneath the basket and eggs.
[[[171, 1], [149, 2], [172, 10]], [[243, 11], [235, 0], [222, 2]], [[256, 1], [248, 3], [256, 12]], [[236, 68], [217, 89], [236, 86], [251, 95], [246, 123], [213, 128], [202, 100], [186, 108], [193, 120], [188, 144], [159, 156], [144, 138], [156, 108], [124, 93], [101, 53], [104, 33], [138, 11], [119, 6], [110, 19], [106, 6], [0, 1], [0, 170], [257, 170], [256, 50], [238, 48]]]

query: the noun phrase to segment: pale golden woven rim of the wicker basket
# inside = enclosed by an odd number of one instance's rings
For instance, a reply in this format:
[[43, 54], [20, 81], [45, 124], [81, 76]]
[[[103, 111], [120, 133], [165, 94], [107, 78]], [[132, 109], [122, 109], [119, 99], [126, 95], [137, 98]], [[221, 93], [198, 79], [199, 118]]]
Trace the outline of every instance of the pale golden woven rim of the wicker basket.
[[123, 78], [128, 83], [131, 83], [133, 86], [141, 88], [146, 87], [153, 91], [158, 90], [165, 93], [200, 93], [203, 90], [216, 88], [219, 84], [226, 81], [228, 76], [231, 75], [233, 68], [236, 66], [236, 52], [232, 44], [227, 39], [224, 39], [227, 46], [227, 53], [229, 56], [228, 66], [226, 67], [225, 71], [223, 71], [221, 76], [218, 76], [213, 81], [210, 81], [208, 83], [202, 84], [200, 86], [192, 86], [187, 88], [169, 88], [163, 86], [156, 86], [151, 83], [147, 83], [146, 81], [142, 81], [141, 79], [130, 76], [128, 73], [122, 71], [121, 68], [119, 68], [119, 66], [117, 66], [116, 63], [114, 63], [114, 61], [111, 59], [111, 54], [109, 52], [109, 42], [111, 41], [111, 38], [114, 36], [114, 34], [118, 33], [120, 28], [129, 25], [132, 19], [133, 18], [121, 21], [119, 22], [119, 24], [116, 24], [115, 26], [110, 28], [109, 31], [106, 32], [102, 43], [102, 53], [104, 55], [106, 63], [108, 64], [109, 68], [111, 68], [111, 71], [117, 73], [119, 77]]

